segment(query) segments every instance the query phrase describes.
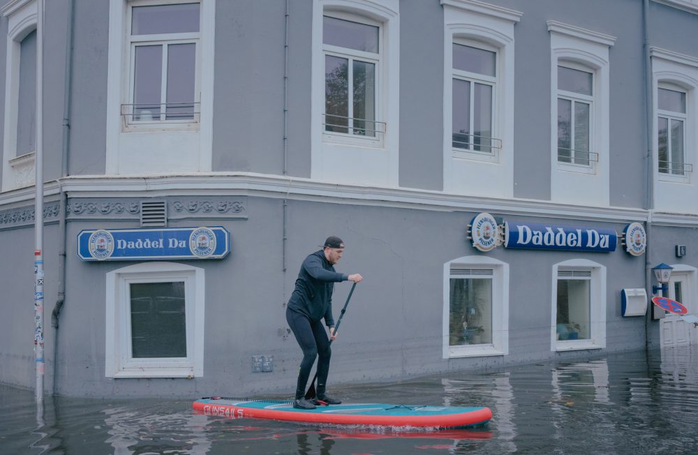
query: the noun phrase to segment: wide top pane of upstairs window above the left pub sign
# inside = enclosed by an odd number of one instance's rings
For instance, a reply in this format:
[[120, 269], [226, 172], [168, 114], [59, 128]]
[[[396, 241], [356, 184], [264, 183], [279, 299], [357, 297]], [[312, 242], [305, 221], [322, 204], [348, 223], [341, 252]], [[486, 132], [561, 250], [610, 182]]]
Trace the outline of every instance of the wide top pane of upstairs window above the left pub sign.
[[199, 3], [135, 6], [132, 35], [190, 33], [199, 31]]

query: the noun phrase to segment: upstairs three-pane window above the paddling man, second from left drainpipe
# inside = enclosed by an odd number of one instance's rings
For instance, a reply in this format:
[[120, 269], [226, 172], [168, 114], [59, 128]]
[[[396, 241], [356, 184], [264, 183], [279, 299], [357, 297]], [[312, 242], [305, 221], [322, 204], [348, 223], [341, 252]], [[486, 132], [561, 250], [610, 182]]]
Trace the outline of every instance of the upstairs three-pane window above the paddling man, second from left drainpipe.
[[325, 53], [325, 131], [364, 137], [383, 133], [376, 121], [380, 27], [322, 18]]

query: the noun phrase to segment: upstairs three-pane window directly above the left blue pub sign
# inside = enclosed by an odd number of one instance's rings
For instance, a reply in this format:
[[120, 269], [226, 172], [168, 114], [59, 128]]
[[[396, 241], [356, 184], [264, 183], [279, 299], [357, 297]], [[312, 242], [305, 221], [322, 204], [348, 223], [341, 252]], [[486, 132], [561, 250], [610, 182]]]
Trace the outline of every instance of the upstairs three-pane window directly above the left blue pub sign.
[[129, 123], [198, 121], [200, 4], [133, 6]]

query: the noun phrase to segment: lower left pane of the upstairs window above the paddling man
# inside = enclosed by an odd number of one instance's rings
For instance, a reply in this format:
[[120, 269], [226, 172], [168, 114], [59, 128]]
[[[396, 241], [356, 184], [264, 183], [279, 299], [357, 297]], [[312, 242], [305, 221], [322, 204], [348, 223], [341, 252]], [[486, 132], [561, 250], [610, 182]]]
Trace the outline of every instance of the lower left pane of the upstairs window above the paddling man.
[[325, 131], [348, 133], [349, 61], [325, 56]]

